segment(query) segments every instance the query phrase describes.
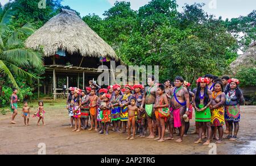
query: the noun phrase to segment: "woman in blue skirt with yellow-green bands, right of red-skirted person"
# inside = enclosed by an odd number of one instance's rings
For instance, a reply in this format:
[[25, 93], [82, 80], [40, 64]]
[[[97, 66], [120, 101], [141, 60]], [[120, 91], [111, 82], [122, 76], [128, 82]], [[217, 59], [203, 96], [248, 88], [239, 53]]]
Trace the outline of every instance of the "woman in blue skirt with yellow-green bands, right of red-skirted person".
[[121, 99], [123, 98], [121, 93], [120, 85], [113, 85], [114, 96], [112, 97], [111, 103], [111, 121], [114, 123], [114, 130], [119, 132], [121, 126]]

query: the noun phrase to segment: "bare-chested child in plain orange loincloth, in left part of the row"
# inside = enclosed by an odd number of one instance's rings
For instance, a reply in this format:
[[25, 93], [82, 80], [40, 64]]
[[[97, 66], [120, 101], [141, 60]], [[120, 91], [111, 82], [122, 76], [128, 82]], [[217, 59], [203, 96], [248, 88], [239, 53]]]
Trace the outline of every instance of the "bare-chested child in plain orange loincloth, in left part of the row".
[[90, 103], [89, 103], [89, 111], [90, 111], [90, 130], [93, 129], [93, 122], [95, 124], [95, 131], [97, 131], [97, 101], [98, 96], [96, 96], [96, 89], [92, 89], [90, 91]]

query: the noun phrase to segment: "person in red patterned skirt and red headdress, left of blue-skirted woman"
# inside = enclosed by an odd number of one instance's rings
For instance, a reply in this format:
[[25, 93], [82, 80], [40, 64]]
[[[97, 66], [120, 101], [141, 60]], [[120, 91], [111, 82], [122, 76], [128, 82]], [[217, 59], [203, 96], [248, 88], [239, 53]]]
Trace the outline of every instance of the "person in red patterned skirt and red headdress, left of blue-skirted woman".
[[[102, 110], [102, 124], [105, 125], [106, 134], [109, 135], [109, 126], [111, 122], [111, 111], [110, 111], [110, 94], [104, 94], [104, 104], [100, 107]], [[104, 134], [104, 126], [102, 126], [101, 134]]]

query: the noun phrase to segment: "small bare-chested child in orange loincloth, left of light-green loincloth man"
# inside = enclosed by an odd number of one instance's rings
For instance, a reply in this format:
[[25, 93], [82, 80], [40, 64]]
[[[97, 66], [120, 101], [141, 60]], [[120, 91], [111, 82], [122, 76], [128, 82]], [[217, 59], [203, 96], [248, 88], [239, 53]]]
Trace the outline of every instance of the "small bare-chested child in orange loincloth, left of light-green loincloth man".
[[[131, 105], [128, 106], [128, 137], [126, 139], [135, 139], [135, 114], [139, 112], [136, 105], [136, 98], [131, 98]], [[131, 137], [131, 126], [133, 126], [133, 136]]]

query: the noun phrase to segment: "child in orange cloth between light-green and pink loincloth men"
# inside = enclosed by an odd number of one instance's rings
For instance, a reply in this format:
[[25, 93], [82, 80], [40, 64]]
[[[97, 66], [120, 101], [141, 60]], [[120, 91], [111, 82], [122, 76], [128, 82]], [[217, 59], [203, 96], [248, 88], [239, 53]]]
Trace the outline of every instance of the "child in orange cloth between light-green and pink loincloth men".
[[164, 93], [164, 85], [158, 86], [158, 95], [159, 97], [155, 102], [155, 117], [156, 117], [156, 126], [158, 126], [158, 142], [164, 142], [164, 132], [166, 131], [165, 122], [170, 116], [170, 110], [168, 109], [169, 102], [166, 94]]

